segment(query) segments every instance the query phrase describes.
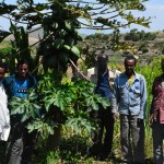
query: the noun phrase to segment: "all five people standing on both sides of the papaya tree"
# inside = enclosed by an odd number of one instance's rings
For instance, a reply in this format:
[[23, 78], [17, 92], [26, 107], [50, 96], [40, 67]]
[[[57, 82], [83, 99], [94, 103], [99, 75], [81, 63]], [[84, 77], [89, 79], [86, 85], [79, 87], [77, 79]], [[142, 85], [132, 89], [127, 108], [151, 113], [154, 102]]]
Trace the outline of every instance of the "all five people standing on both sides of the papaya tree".
[[[98, 128], [93, 131], [94, 144], [90, 154], [102, 159], [113, 151], [114, 124], [120, 119], [120, 144], [125, 163], [144, 164], [144, 118], [147, 109], [147, 84], [143, 75], [134, 71], [137, 59], [128, 56], [125, 59], [125, 72], [108, 67], [108, 56], [98, 55], [95, 68], [87, 69], [84, 75], [96, 84], [95, 94], [106, 97], [110, 106], [93, 110]], [[163, 73], [155, 78], [152, 86], [152, 105], [148, 121], [152, 127], [154, 163], [163, 164], [164, 137], [164, 59]], [[28, 63], [21, 60], [14, 74], [4, 78], [5, 66], [0, 63], [0, 140], [10, 137], [7, 148], [8, 164], [27, 164], [33, 152], [34, 133], [28, 133], [26, 124], [21, 124], [19, 115], [10, 116], [8, 99], [13, 96], [26, 98], [31, 87], [36, 89], [36, 79], [28, 73]], [[9, 109], [8, 109], [9, 107]], [[11, 126], [11, 127], [10, 127]], [[105, 129], [105, 134], [104, 133]], [[8, 136], [8, 134], [7, 134]], [[104, 141], [103, 141], [104, 140]]]

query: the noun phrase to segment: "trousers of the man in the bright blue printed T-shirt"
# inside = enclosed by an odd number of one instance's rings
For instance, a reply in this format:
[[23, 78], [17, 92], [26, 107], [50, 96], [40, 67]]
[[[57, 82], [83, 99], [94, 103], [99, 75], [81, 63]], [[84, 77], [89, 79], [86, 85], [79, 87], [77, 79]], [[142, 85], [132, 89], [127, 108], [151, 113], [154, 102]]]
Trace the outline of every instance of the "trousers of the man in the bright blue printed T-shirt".
[[30, 164], [34, 148], [34, 133], [28, 133], [25, 125], [12, 121], [8, 149], [8, 164]]

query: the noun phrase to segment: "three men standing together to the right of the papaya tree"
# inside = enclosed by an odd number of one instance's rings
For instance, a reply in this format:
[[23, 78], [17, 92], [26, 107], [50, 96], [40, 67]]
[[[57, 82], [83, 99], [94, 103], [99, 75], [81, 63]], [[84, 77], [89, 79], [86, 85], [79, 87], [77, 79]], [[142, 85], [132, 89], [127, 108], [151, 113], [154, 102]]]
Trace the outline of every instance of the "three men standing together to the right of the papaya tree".
[[[125, 58], [125, 72], [113, 70], [107, 63], [108, 56], [98, 55], [96, 67], [84, 72], [85, 78], [96, 84], [95, 94], [110, 102], [109, 107], [104, 108], [99, 104], [98, 110], [91, 114], [91, 117], [98, 120], [98, 128], [93, 131], [94, 144], [90, 148], [90, 154], [99, 159], [112, 155], [114, 124], [119, 118], [124, 163], [144, 164], [145, 79], [134, 71], [137, 59], [133, 56]], [[152, 86], [153, 99], [148, 116], [152, 127], [155, 164], [164, 163], [164, 59], [162, 70], [163, 73], [154, 80]]]

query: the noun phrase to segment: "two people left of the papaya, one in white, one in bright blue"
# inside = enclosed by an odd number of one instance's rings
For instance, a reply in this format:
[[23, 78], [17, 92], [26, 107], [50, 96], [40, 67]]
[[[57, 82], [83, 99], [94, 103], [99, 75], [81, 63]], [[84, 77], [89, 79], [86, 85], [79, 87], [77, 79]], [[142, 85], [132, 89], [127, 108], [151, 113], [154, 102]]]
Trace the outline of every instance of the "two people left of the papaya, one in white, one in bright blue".
[[[10, 101], [13, 96], [26, 98], [27, 91], [37, 87], [36, 79], [28, 73], [28, 62], [21, 60], [15, 73], [4, 78], [7, 67], [0, 63], [0, 142], [5, 142], [4, 164], [27, 164], [34, 150], [34, 133], [28, 133], [26, 124], [21, 122], [20, 115], [10, 116]], [[7, 98], [8, 97], [8, 98]], [[10, 133], [10, 134], [9, 134]], [[0, 144], [4, 145], [4, 144]], [[2, 148], [0, 148], [2, 151]], [[4, 149], [4, 147], [3, 147]]]

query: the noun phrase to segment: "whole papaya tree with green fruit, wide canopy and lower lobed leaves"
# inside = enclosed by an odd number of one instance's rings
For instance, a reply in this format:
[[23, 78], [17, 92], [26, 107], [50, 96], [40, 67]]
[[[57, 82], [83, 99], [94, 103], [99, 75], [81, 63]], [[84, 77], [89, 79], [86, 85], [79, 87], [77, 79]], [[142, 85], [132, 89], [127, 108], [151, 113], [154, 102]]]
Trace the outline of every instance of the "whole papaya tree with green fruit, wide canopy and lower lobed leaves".
[[[20, 58], [24, 58], [22, 54], [23, 50], [26, 50], [28, 59], [32, 60], [32, 55], [27, 45], [27, 31], [35, 26], [44, 30], [44, 37], [39, 39], [39, 48], [35, 56], [35, 58], [38, 59], [36, 60], [37, 62], [42, 59], [44, 68], [44, 73], [42, 72], [42, 75], [38, 74], [39, 78], [42, 78], [39, 85], [42, 99], [39, 99], [39, 103], [42, 104], [42, 109], [44, 112], [40, 119], [35, 120], [37, 126], [36, 124], [33, 124], [33, 127], [32, 125], [30, 126], [31, 130], [37, 129], [40, 132], [42, 130], [39, 128], [46, 127], [40, 127], [40, 125], [46, 122], [46, 125], [48, 125], [47, 132], [52, 133], [49, 127], [61, 122], [56, 122], [57, 119], [52, 119], [50, 115], [51, 109], [54, 112], [59, 112], [56, 116], [66, 116], [67, 119], [71, 118], [73, 120], [71, 121], [71, 125], [79, 126], [79, 124], [74, 124], [77, 121], [74, 118], [78, 117], [86, 120], [84, 117], [85, 113], [83, 112], [84, 107], [90, 109], [90, 106], [93, 106], [93, 108], [96, 109], [96, 103], [103, 103], [103, 101], [98, 97], [94, 97], [93, 92], [87, 89], [89, 94], [83, 94], [83, 92], [86, 92], [84, 86], [83, 90], [82, 87], [75, 89], [73, 84], [83, 85], [82, 81], [74, 81], [72, 84], [73, 86], [69, 85], [69, 89], [65, 90], [65, 92], [62, 91], [66, 86], [68, 86], [68, 83], [66, 85], [62, 83], [62, 77], [66, 72], [67, 65], [69, 62], [75, 62], [81, 56], [81, 51], [77, 47], [77, 43], [82, 40], [82, 37], [79, 35], [77, 30], [110, 30], [114, 32], [109, 43], [110, 48], [114, 50], [127, 48], [126, 44], [119, 43], [119, 30], [121, 27], [128, 27], [133, 23], [149, 26], [150, 19], [134, 17], [131, 12], [132, 10], [144, 11], [145, 8], [142, 4], [144, 1], [145, 0], [94, 0], [91, 2], [90, 0], [48, 0], [45, 3], [35, 3], [34, 0], [17, 0], [17, 4], [15, 5], [7, 4], [5, 1], [0, 3], [0, 15], [7, 16], [8, 14], [8, 17], [12, 22], [10, 31], [14, 34], [15, 39], [17, 39], [19, 34], [19, 43], [15, 42], [15, 44], [12, 45], [13, 49], [16, 49], [13, 54], [17, 60], [20, 60]], [[25, 24], [26, 26], [19, 27], [17, 23]], [[21, 44], [24, 42], [26, 43], [25, 49], [23, 49]], [[72, 87], [75, 91], [72, 91]], [[54, 94], [51, 91], [54, 91]], [[75, 93], [72, 94], [72, 92]], [[69, 98], [71, 94], [74, 99]], [[82, 94], [83, 99], [81, 99], [80, 96]], [[89, 95], [90, 97], [87, 97]], [[62, 96], [62, 98], [60, 96]], [[31, 99], [33, 99], [32, 96], [28, 99], [28, 104], [31, 104]], [[91, 104], [86, 99], [90, 99]], [[78, 103], [74, 103], [75, 101]], [[84, 102], [84, 104], [81, 104], [81, 101]], [[66, 109], [68, 106], [65, 106], [65, 104], [71, 106], [71, 109], [78, 108], [78, 110], [71, 110], [73, 113], [72, 117], [68, 117], [70, 115], [67, 115], [68, 110]], [[13, 106], [14, 105], [19, 104], [13, 103]], [[28, 107], [32, 106], [28, 105]], [[33, 107], [35, 108], [35, 105]], [[36, 109], [38, 109], [38, 106], [36, 106]], [[16, 113], [20, 112], [22, 110], [17, 106]], [[32, 116], [33, 115], [28, 115], [25, 117]], [[38, 124], [40, 120], [43, 124]], [[87, 124], [82, 121], [81, 126], [83, 125]], [[44, 131], [45, 130], [42, 132], [44, 133]]]

